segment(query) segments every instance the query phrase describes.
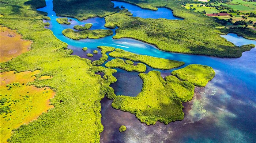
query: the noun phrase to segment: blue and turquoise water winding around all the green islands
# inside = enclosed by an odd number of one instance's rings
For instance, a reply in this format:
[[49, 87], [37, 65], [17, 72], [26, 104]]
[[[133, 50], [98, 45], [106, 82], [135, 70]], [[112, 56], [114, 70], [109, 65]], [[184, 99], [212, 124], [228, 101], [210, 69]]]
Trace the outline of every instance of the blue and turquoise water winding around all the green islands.
[[[214, 68], [216, 76], [206, 87], [196, 88], [195, 96], [191, 102], [183, 103], [185, 118], [179, 122], [168, 125], [157, 122], [154, 126], [140, 123], [134, 115], [111, 107], [112, 100], [103, 99], [102, 124], [104, 131], [101, 133], [101, 142], [256, 142], [256, 49], [244, 52], [242, 57], [227, 59], [201, 55], [187, 55], [181, 53], [164, 52], [154, 45], [146, 44], [138, 40], [122, 38], [112, 39], [106, 36], [101, 39], [72, 40], [62, 35], [63, 29], [72, 28], [74, 25], [92, 23], [91, 29], [108, 29], [104, 27], [104, 18], [94, 17], [84, 21], [72, 19], [71, 25], [59, 24], [56, 21], [55, 12], [52, 11], [52, 0], [46, 0], [47, 7], [38, 9], [48, 12], [52, 19], [49, 29], [61, 41], [68, 44], [68, 48], [74, 51], [73, 55], [97, 60], [101, 55], [87, 57], [86, 53], [98, 50], [97, 46], [106, 45], [121, 48], [129, 52], [141, 55], [163, 57], [166, 59], [184, 61], [185, 67], [189, 64], [203, 64]], [[141, 9], [135, 5], [114, 2], [115, 6], [125, 6], [133, 13], [133, 16], [143, 18], [177, 19], [172, 11], [159, 8], [158, 11]], [[138, 12], [140, 11], [140, 12]], [[165, 14], [163, 14], [165, 13]], [[112, 29], [113, 32], [115, 29]], [[115, 35], [115, 32], [114, 32]], [[256, 41], [244, 39], [236, 34], [222, 35], [228, 41], [236, 45], [256, 44]], [[86, 52], [82, 47], [88, 47]], [[98, 50], [99, 51], [99, 50]], [[113, 58], [109, 58], [111, 60]], [[182, 68], [179, 67], [179, 68]], [[176, 68], [178, 69], [178, 68]], [[147, 67], [147, 71], [155, 70]], [[172, 69], [175, 70], [175, 69]], [[165, 77], [172, 70], [158, 70]], [[117, 69], [113, 74], [117, 82], [111, 84], [117, 95], [136, 96], [142, 88], [142, 80], [137, 72], [127, 72]], [[118, 132], [121, 125], [127, 126], [127, 131]]]

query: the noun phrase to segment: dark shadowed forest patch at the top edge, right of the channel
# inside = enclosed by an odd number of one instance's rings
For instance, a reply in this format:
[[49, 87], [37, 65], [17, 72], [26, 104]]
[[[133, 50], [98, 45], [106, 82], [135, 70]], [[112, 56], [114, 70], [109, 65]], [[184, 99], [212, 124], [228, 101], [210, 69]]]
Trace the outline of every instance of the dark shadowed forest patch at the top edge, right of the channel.
[[53, 0], [57, 16], [75, 17], [82, 21], [90, 17], [104, 17], [120, 10], [110, 0]]

